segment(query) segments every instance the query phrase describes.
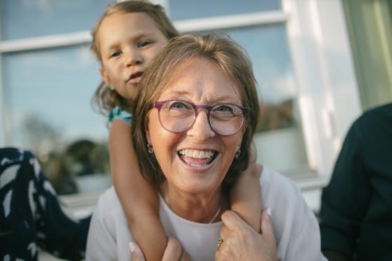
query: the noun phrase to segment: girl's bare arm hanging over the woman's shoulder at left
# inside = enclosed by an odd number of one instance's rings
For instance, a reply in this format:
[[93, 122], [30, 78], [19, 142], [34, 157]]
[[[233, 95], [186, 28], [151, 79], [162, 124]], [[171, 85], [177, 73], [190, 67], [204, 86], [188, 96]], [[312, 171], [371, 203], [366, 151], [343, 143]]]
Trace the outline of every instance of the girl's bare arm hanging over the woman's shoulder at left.
[[132, 146], [131, 128], [126, 123], [112, 122], [109, 152], [113, 185], [133, 239], [141, 246], [146, 260], [162, 260], [167, 237], [158, 217], [157, 189], [141, 175]]

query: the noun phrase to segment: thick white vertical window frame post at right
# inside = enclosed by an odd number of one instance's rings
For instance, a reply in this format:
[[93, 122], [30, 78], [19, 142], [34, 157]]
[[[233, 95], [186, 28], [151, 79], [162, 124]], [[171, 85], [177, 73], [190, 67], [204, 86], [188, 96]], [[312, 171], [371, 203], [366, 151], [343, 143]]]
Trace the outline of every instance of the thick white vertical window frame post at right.
[[361, 112], [343, 7], [341, 0], [282, 4], [290, 13], [287, 34], [308, 163], [329, 180], [344, 136]]

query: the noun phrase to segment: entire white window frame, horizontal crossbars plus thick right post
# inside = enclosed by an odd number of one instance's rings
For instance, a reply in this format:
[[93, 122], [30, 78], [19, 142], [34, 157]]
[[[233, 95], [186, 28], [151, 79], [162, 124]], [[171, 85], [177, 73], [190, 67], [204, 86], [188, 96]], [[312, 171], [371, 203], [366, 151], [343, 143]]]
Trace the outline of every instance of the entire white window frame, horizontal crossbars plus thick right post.
[[[167, 0], [159, 3], [169, 12]], [[287, 28], [308, 165], [316, 170], [316, 175], [296, 183], [303, 191], [320, 188], [329, 182], [346, 131], [361, 113], [341, 0], [282, 0], [282, 11], [174, 22], [180, 32], [269, 24], [285, 24]], [[90, 42], [88, 31], [0, 41], [0, 61], [4, 53]], [[331, 52], [338, 55], [330, 55]], [[1, 74], [0, 62], [0, 79], [4, 79]], [[339, 84], [332, 84], [336, 79]], [[0, 146], [7, 145], [10, 135], [4, 93], [4, 84], [0, 82]]]

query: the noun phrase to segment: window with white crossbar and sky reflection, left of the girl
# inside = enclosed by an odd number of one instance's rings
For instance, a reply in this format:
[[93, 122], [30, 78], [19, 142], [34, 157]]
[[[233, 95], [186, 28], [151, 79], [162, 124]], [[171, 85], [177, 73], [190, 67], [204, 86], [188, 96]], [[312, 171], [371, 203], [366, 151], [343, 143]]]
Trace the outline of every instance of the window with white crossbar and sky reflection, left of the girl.
[[1, 1], [1, 145], [32, 150], [60, 194], [110, 185], [89, 31], [111, 2]]

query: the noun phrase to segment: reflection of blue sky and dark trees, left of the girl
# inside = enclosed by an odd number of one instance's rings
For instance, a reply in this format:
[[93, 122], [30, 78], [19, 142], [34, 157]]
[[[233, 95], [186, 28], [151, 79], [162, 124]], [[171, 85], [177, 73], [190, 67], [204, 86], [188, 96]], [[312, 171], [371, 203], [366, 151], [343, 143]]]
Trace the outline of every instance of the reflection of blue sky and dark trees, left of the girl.
[[4, 55], [11, 145], [31, 149], [60, 194], [77, 192], [75, 177], [110, 173], [105, 117], [93, 111], [100, 83], [89, 46]]

